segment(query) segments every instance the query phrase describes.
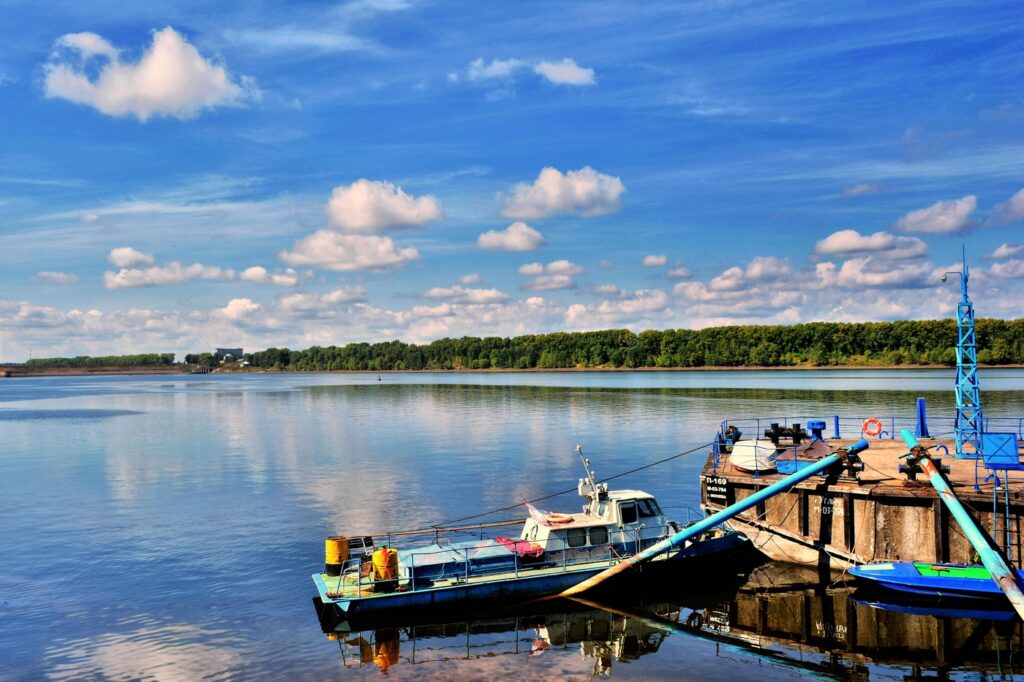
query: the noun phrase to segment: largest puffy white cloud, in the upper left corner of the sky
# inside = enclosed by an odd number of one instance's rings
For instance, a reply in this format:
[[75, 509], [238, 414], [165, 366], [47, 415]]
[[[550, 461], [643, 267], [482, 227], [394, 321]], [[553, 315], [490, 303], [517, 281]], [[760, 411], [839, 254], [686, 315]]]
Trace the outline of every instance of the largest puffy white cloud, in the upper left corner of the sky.
[[154, 32], [136, 63], [122, 61], [120, 50], [96, 34], [68, 34], [57, 39], [43, 72], [47, 97], [143, 122], [154, 116], [191, 119], [259, 95], [251, 79], [231, 78], [170, 27]]

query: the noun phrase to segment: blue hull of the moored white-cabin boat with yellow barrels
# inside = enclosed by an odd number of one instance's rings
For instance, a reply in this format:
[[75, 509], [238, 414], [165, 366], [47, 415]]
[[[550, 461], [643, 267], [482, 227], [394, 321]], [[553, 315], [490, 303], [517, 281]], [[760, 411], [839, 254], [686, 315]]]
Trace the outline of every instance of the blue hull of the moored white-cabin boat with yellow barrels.
[[[705, 571], [721, 570], [723, 563], [732, 563], [737, 556], [746, 553], [755, 553], [750, 541], [742, 535], [729, 532], [695, 543], [666, 560], [642, 564], [624, 578], [642, 576], [645, 582], [663, 576], [681, 579], [687, 574], [696, 576]], [[351, 619], [417, 609], [463, 609], [483, 603], [514, 602], [524, 598], [556, 595], [607, 567], [608, 564], [602, 562], [585, 568], [569, 568], [558, 572], [539, 571], [538, 574], [520, 574], [511, 580], [469, 582], [350, 599], [332, 597], [322, 573], [314, 574], [313, 582], [325, 607], [330, 608], [333, 605], [338, 609], [340, 617]]]

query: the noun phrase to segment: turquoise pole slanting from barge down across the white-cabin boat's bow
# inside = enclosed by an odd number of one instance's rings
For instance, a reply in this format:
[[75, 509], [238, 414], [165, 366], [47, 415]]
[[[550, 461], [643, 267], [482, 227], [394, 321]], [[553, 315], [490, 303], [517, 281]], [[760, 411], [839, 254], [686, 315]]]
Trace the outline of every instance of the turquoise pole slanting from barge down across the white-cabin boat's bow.
[[[866, 440], [858, 440], [857, 442], [855, 442], [854, 444], [850, 445], [847, 449], [847, 453], [854, 455], [863, 450], [866, 450], [867, 446], [868, 445]], [[818, 462], [815, 462], [814, 464], [806, 466], [803, 469], [797, 471], [796, 473], [790, 474], [782, 480], [772, 483], [767, 487], [763, 487], [757, 493], [754, 493], [753, 495], [746, 496], [739, 502], [730, 505], [729, 507], [726, 507], [722, 511], [712, 514], [711, 516], [708, 516], [705, 519], [697, 521], [693, 525], [683, 528], [682, 530], [680, 530], [675, 535], [669, 536], [665, 540], [651, 545], [650, 547], [640, 552], [639, 554], [634, 554], [630, 558], [624, 561], [620, 561], [610, 568], [605, 568], [597, 576], [589, 578], [578, 585], [573, 585], [568, 590], [565, 590], [558, 596], [569, 597], [574, 594], [580, 594], [581, 592], [586, 592], [587, 590], [603, 583], [609, 578], [617, 576], [618, 573], [623, 572], [630, 566], [641, 563], [642, 561], [648, 561], [657, 556], [658, 554], [669, 551], [673, 547], [678, 547], [679, 545], [682, 545], [687, 540], [699, 536], [705, 530], [709, 530], [718, 525], [719, 523], [727, 521], [733, 516], [736, 516], [746, 511], [751, 507], [757, 505], [759, 502], [763, 502], [764, 500], [767, 500], [772, 496], [778, 495], [779, 493], [784, 493], [785, 491], [793, 487], [802, 480], [806, 480], [811, 476], [817, 474], [818, 472], [824, 471], [834, 464], [839, 463], [840, 459], [841, 456], [838, 454], [829, 455], [823, 460], [820, 460]]]

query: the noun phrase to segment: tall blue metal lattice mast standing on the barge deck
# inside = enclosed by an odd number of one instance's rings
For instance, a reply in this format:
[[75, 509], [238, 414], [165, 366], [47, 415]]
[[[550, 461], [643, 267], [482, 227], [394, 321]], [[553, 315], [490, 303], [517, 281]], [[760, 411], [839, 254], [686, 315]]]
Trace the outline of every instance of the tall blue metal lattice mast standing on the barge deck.
[[[980, 459], [981, 435], [984, 422], [981, 416], [981, 385], [978, 382], [978, 337], [974, 331], [974, 303], [967, 293], [971, 272], [967, 266], [967, 250], [963, 252], [964, 267], [961, 272], [945, 272], [942, 282], [950, 274], [961, 281], [961, 301], [956, 306], [956, 459]], [[964, 443], [971, 443], [973, 453], [964, 452]]]

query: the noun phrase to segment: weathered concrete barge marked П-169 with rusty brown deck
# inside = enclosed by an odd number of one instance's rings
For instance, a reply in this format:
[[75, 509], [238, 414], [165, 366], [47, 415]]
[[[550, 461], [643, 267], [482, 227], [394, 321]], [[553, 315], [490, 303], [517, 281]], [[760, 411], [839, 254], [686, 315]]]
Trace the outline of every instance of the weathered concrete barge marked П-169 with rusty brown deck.
[[[835, 451], [859, 437], [857, 433], [856, 438], [833, 437], [824, 442]], [[1019, 430], [1016, 438], [1019, 457]], [[952, 453], [954, 449], [949, 439], [920, 440], [926, 447], [940, 452], [944, 447]], [[768, 440], [761, 442], [772, 445]], [[779, 442], [779, 450], [787, 444], [792, 446], [792, 442]], [[730, 464], [728, 450], [716, 443], [705, 463], [700, 501], [709, 512], [719, 511], [783, 477], [774, 469], [757, 473], [739, 470]], [[927, 478], [919, 476], [914, 480], [900, 472], [899, 458], [906, 452], [901, 440], [887, 435], [871, 439], [870, 449], [860, 454], [864, 467], [856, 477], [816, 476], [758, 504], [730, 523], [774, 560], [821, 568], [843, 569], [873, 561], [978, 563], [974, 548]], [[785, 455], [778, 459], [784, 460]], [[975, 521], [992, 534], [994, 518], [995, 544], [1007, 549], [1011, 563], [1024, 565], [1020, 532], [1024, 472], [996, 471], [999, 489], [993, 496], [995, 480], [989, 476], [993, 472], [983, 462], [950, 456], [944, 457], [942, 464], [949, 467], [947, 478]], [[1007, 482], [1009, 491], [1004, 489]]]

